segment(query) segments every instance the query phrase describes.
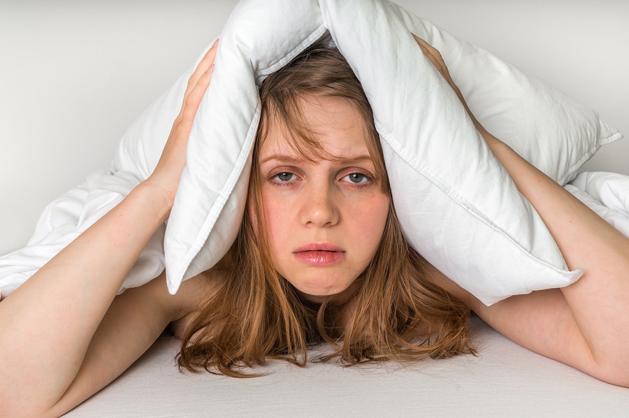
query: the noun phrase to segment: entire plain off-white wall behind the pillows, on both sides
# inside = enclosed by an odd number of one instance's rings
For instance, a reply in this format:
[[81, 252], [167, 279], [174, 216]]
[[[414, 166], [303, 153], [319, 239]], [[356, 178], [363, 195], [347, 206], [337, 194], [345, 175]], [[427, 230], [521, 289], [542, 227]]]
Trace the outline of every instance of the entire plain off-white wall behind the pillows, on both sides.
[[[629, 135], [629, 1], [398, 3]], [[219, 36], [235, 4], [0, 0], [0, 254], [27, 242], [48, 202], [109, 166], [126, 127]], [[629, 175], [629, 140], [585, 168]]]

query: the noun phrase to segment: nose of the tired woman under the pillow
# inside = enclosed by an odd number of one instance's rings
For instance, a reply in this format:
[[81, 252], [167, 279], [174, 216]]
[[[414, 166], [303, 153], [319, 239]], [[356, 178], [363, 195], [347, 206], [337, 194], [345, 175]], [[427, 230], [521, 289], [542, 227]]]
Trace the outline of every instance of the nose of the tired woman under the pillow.
[[307, 226], [338, 224], [340, 211], [334, 187], [326, 182], [310, 184], [301, 199], [301, 222]]

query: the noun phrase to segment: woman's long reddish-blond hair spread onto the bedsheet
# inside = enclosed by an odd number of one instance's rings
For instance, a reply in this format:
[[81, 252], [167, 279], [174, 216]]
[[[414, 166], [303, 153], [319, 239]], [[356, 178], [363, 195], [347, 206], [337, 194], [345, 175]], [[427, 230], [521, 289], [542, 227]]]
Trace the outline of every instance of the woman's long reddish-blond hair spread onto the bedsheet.
[[291, 146], [305, 159], [326, 157], [301, 113], [303, 100], [313, 94], [343, 97], [356, 108], [382, 191], [391, 196], [371, 108], [338, 50], [318, 43], [269, 75], [260, 92], [262, 113], [246, 215], [231, 250], [207, 273], [220, 275], [222, 284], [189, 325], [178, 356], [180, 368], [249, 377], [256, 374], [245, 368], [266, 359], [304, 366], [308, 348], [321, 342], [330, 343], [332, 352], [320, 360], [346, 364], [473, 352], [470, 311], [428, 280], [426, 261], [404, 238], [392, 202], [375, 257], [356, 279], [361, 287], [349, 312], [342, 314], [334, 301], [317, 304], [302, 298], [275, 271], [264, 228], [257, 153], [271, 124], [280, 124], [296, 138]]

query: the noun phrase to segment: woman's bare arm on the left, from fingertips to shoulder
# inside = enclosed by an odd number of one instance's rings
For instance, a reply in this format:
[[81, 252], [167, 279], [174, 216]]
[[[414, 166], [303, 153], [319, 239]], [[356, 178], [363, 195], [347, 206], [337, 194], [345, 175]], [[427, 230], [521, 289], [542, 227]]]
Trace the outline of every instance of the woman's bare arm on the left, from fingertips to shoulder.
[[150, 178], [0, 303], [3, 414], [61, 415], [120, 375], [178, 319], [186, 292], [169, 298], [164, 280], [115, 296], [172, 208], [216, 49], [192, 75]]

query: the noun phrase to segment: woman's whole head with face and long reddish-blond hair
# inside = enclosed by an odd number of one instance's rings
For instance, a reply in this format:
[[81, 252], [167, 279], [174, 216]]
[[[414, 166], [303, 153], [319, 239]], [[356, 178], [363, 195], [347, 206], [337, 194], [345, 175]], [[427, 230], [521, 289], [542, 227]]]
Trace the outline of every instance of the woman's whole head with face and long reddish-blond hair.
[[261, 99], [247, 216], [208, 273], [223, 285], [189, 326], [180, 366], [242, 377], [269, 357], [303, 365], [321, 340], [335, 346], [324, 360], [346, 363], [469, 352], [469, 311], [427, 280], [403, 236], [345, 59], [310, 48]]

